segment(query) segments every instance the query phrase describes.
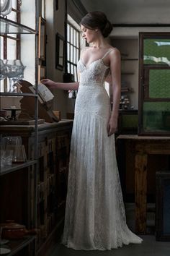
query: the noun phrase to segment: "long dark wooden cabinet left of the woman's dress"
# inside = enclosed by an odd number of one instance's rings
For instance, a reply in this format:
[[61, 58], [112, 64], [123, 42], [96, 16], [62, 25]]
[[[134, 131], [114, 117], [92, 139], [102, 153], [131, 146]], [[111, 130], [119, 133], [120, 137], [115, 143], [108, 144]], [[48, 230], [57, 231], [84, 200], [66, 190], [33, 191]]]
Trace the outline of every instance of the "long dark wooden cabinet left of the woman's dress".
[[[1, 205], [5, 210], [0, 220], [10, 218], [27, 229], [36, 227], [36, 255], [44, 256], [49, 244], [56, 242], [63, 231], [72, 124], [65, 120], [38, 125], [37, 176], [34, 164], [1, 176]], [[30, 160], [34, 158], [34, 126], [8, 125], [0, 131], [3, 136], [22, 136], [27, 155]]]

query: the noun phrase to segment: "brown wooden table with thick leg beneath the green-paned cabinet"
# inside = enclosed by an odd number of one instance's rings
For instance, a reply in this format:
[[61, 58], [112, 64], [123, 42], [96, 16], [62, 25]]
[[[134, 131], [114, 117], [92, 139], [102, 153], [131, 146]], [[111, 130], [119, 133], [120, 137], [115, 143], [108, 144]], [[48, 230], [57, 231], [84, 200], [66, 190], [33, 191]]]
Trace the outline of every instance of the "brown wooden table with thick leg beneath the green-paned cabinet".
[[135, 232], [146, 234], [148, 155], [170, 155], [170, 137], [120, 135], [120, 141], [135, 152]]

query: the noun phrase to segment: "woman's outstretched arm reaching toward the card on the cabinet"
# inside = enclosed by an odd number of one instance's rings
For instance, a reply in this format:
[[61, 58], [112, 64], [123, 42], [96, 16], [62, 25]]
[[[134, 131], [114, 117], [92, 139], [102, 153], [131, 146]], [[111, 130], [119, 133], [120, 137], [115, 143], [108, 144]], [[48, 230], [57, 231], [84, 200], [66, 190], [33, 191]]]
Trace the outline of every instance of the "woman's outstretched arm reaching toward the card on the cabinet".
[[78, 90], [79, 88], [79, 82], [54, 82], [50, 79], [42, 79], [40, 82], [49, 89]]

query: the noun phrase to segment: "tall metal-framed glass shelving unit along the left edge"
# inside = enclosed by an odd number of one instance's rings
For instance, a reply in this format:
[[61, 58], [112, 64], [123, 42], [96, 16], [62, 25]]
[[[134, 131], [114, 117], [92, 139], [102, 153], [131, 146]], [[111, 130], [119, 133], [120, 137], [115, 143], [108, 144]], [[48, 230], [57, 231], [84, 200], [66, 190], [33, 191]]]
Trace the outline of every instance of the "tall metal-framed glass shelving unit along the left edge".
[[[38, 115], [38, 89], [37, 89], [37, 38], [38, 38], [38, 18], [37, 18], [37, 0], [32, 0], [30, 9], [27, 10], [28, 1], [11, 1], [12, 8], [10, 12], [0, 12], [0, 39], [1, 39], [1, 77], [0, 77], [0, 99], [11, 104], [10, 99], [27, 96], [35, 101], [34, 118], [34, 155], [30, 156], [26, 149], [27, 160], [10, 165], [1, 165], [0, 171], [0, 228], [1, 238], [0, 254], [34, 256], [35, 234], [23, 236], [21, 239], [7, 239], [3, 237], [4, 223], [6, 220], [14, 220], [26, 226], [27, 229], [36, 226], [36, 180], [37, 180], [37, 115]], [[27, 12], [26, 12], [27, 10]], [[22, 14], [22, 15], [20, 15]], [[29, 16], [30, 15], [30, 16]], [[30, 17], [32, 24], [30, 27]], [[31, 39], [30, 39], [31, 38]], [[27, 51], [27, 47], [32, 42], [32, 49]], [[25, 46], [23, 46], [25, 43]], [[10, 48], [9, 48], [10, 44]], [[29, 52], [29, 54], [27, 54]], [[23, 54], [26, 53], [26, 54]], [[30, 56], [30, 59], [28, 57]], [[9, 59], [12, 63], [9, 64]], [[25, 63], [22, 65], [22, 61]], [[24, 62], [23, 61], [23, 62]], [[27, 64], [30, 61], [30, 66]], [[12, 70], [9, 69], [12, 67]], [[18, 72], [18, 73], [17, 73]], [[14, 90], [14, 82], [21, 79], [32, 77], [30, 82], [35, 84], [35, 93], [22, 93], [20, 90]], [[9, 79], [9, 80], [8, 80]], [[13, 81], [11, 81], [13, 80]], [[7, 81], [9, 83], [7, 83]], [[11, 83], [13, 82], [13, 83]], [[11, 86], [10, 86], [11, 85]], [[9, 103], [10, 102], [10, 103]], [[9, 105], [10, 108], [10, 105]], [[12, 108], [12, 106], [11, 106]], [[17, 108], [14, 109], [17, 111]], [[2, 111], [2, 110], [1, 110]], [[15, 121], [15, 120], [14, 120]], [[16, 132], [7, 133], [4, 125], [1, 124], [1, 136], [22, 136], [19, 129]], [[7, 121], [6, 121], [7, 124]], [[11, 131], [12, 125], [8, 124], [7, 129]], [[1, 138], [2, 138], [1, 137]], [[24, 139], [22, 140], [24, 144]], [[1, 158], [2, 159], [2, 158]], [[35, 181], [35, 184], [33, 184]], [[35, 185], [35, 188], [34, 188]], [[32, 210], [30, 210], [32, 209]], [[5, 241], [5, 242], [4, 242]]]

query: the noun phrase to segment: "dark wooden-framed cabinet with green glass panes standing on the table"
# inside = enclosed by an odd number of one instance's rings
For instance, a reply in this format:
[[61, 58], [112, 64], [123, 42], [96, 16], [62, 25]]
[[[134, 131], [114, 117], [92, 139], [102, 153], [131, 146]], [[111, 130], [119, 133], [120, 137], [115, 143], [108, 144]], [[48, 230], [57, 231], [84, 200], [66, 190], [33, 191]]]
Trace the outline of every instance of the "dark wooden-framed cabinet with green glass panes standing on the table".
[[138, 134], [170, 135], [170, 33], [139, 33]]

